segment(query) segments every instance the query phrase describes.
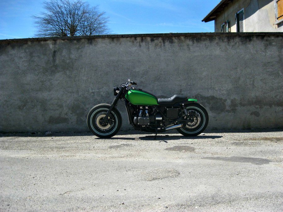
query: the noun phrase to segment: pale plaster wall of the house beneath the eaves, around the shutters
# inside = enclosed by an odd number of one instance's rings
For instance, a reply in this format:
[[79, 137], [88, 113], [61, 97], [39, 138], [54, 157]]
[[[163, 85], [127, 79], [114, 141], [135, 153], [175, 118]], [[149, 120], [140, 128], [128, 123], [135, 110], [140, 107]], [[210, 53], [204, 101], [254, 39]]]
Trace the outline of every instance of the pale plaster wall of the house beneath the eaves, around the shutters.
[[236, 32], [235, 14], [244, 9], [244, 32], [283, 32], [283, 23], [275, 24], [276, 8], [276, 0], [233, 1], [215, 19], [214, 31], [221, 32], [221, 25], [228, 20], [229, 31]]

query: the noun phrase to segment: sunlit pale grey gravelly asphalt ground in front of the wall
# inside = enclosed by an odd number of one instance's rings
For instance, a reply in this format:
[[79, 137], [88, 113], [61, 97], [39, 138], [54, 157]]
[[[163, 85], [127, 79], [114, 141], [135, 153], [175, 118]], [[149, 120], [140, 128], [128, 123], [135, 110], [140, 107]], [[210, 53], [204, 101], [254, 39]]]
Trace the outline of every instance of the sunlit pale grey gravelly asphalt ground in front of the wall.
[[140, 133], [0, 134], [0, 211], [283, 211], [282, 130]]

